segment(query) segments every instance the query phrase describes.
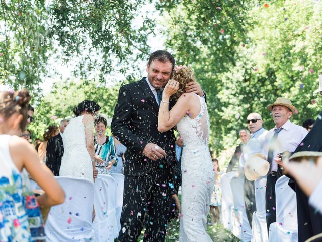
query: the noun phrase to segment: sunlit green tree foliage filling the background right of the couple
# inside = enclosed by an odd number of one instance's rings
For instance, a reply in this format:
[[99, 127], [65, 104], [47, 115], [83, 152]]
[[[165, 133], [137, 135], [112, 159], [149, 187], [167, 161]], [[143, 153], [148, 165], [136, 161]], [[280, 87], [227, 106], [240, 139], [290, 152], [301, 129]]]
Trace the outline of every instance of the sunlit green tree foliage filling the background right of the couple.
[[236, 142], [250, 112], [273, 128], [266, 106], [278, 96], [297, 107], [293, 122], [317, 117], [322, 99], [312, 92], [322, 70], [322, 3], [169, 2], [157, 5], [167, 20], [166, 44], [207, 92], [214, 150]]

